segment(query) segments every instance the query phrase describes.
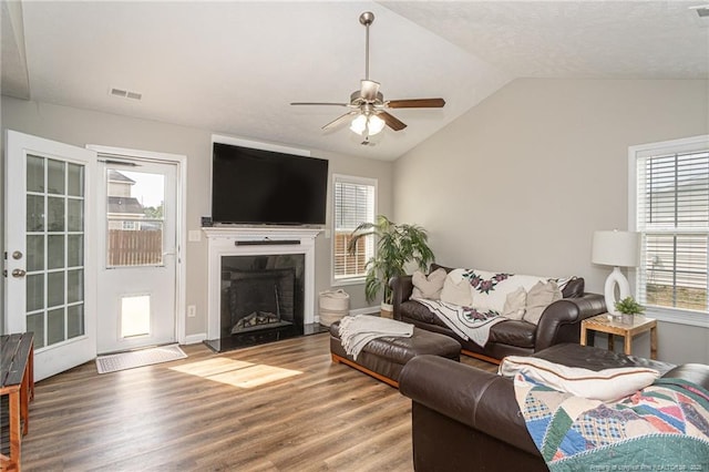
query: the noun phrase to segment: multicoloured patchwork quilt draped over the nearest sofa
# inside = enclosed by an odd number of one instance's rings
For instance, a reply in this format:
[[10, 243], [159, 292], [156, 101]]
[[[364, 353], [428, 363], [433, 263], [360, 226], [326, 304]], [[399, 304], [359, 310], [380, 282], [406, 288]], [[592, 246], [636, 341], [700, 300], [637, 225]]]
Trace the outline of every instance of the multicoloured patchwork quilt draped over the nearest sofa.
[[549, 470], [709, 471], [709, 391], [658, 379], [614, 402], [515, 376], [520, 410]]

